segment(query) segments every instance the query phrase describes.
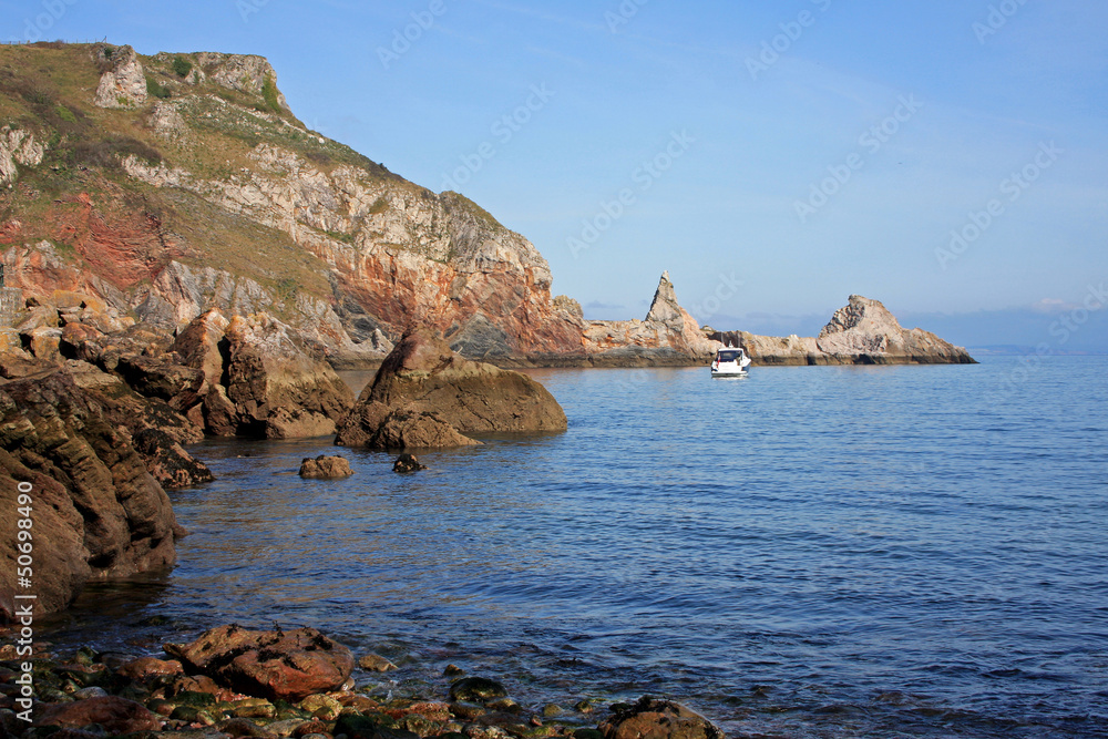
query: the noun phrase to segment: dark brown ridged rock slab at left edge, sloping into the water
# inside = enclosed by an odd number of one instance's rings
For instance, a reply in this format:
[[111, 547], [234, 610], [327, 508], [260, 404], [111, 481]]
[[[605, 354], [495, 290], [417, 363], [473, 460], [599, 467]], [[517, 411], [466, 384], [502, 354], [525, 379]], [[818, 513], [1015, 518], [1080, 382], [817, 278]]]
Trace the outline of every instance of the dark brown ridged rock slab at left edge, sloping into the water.
[[[92, 578], [172, 565], [179, 530], [110, 403], [59, 368], [33, 369], [6, 362], [6, 374], [22, 376], [0, 382], [0, 505], [9, 512], [0, 535], [16, 541], [22, 485], [33, 509], [35, 607], [49, 613]], [[16, 554], [0, 553], [0, 619], [13, 608]]]

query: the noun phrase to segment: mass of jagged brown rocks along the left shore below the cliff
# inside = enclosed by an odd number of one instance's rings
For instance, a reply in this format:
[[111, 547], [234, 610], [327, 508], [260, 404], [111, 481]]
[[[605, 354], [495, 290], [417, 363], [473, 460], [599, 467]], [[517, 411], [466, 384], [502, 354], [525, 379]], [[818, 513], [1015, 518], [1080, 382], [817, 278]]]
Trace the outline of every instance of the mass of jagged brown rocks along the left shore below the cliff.
[[[353, 396], [288, 326], [211, 310], [174, 339], [91, 296], [30, 300], [0, 350], [0, 504], [33, 491], [38, 614], [92, 579], [176, 560], [165, 491], [213, 480], [186, 447], [205, 435], [334, 434]], [[16, 517], [0, 536], [16, 542]], [[0, 551], [0, 622], [14, 613], [14, 546]]]

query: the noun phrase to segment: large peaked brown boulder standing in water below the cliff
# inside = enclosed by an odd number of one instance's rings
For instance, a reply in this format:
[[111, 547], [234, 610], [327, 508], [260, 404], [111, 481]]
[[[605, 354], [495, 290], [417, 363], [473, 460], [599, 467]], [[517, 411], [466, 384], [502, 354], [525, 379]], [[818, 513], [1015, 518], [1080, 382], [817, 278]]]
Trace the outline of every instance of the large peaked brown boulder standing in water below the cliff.
[[337, 444], [375, 449], [473, 443], [465, 434], [564, 431], [565, 412], [525, 374], [454, 353], [434, 330], [404, 333], [340, 424]]

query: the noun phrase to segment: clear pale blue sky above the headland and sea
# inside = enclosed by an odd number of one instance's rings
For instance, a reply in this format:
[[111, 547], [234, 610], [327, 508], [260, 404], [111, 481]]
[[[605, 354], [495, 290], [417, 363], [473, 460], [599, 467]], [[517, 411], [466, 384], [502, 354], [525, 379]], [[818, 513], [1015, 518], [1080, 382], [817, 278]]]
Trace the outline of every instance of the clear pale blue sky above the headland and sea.
[[[668, 269], [717, 328], [811, 332], [858, 292], [963, 343], [1108, 349], [1108, 302], [1089, 300], [1108, 283], [1102, 0], [38, 0], [0, 17], [4, 40], [267, 57], [310, 127], [471, 197], [593, 317], [642, 317]], [[1071, 340], [1049, 332], [1094, 304]]]

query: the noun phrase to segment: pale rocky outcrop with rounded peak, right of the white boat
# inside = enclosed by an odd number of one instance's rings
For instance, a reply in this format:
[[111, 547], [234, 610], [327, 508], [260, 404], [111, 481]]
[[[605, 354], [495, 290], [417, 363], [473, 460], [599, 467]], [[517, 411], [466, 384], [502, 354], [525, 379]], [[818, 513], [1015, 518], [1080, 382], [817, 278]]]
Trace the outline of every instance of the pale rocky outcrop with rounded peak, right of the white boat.
[[852, 295], [817, 337], [717, 331], [710, 338], [746, 349], [758, 365], [972, 365], [974, 359], [923, 329], [903, 328], [878, 300]]

